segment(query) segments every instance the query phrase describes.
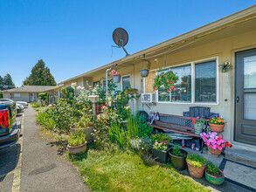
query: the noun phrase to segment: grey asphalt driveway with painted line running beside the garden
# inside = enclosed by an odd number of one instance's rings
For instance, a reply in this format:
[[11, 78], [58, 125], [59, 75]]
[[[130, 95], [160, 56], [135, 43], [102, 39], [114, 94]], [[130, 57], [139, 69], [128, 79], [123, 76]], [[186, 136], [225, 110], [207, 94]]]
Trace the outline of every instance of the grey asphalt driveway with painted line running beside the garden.
[[23, 115], [18, 143], [0, 150], [0, 191], [89, 191], [71, 162], [49, 145], [29, 106]]

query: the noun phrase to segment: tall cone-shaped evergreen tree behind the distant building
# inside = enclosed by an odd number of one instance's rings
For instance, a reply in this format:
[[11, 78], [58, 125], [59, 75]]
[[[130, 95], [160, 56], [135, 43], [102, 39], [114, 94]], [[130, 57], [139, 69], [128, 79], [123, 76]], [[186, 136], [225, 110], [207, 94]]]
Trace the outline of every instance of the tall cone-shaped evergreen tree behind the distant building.
[[40, 59], [31, 70], [31, 75], [24, 79], [24, 86], [56, 86], [50, 69], [45, 67], [45, 62]]

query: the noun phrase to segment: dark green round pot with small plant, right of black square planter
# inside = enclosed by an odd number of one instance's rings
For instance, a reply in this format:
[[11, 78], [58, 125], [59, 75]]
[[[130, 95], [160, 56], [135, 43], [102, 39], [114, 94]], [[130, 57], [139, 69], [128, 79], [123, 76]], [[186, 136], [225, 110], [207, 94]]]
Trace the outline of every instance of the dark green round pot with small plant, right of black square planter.
[[170, 149], [170, 161], [174, 168], [183, 170], [187, 167], [186, 157], [188, 153], [181, 149], [177, 144]]

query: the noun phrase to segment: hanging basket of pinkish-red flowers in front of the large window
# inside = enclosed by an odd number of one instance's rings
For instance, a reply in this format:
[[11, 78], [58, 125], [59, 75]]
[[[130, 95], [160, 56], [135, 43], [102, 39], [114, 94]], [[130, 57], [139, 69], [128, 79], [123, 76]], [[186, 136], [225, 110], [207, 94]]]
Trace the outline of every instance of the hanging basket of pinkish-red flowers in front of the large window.
[[156, 75], [156, 78], [154, 79], [153, 88], [156, 91], [160, 88], [163, 88], [168, 92], [175, 91], [174, 85], [178, 80], [176, 73], [172, 72], [171, 70], [169, 72], [163, 72], [163, 70], [159, 70], [157, 72], [161, 72], [161, 73]]

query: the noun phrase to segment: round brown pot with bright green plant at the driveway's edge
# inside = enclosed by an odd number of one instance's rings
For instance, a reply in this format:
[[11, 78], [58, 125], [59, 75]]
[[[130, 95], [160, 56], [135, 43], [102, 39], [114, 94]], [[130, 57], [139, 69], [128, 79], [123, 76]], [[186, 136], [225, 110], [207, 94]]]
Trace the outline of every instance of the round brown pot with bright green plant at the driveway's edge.
[[86, 134], [82, 130], [76, 130], [68, 138], [67, 148], [70, 154], [78, 154], [86, 151]]

